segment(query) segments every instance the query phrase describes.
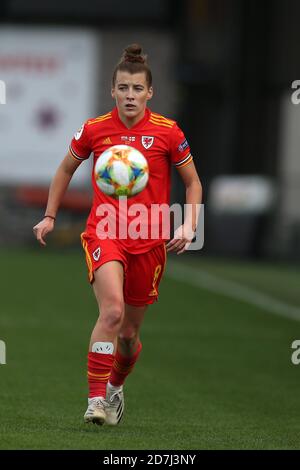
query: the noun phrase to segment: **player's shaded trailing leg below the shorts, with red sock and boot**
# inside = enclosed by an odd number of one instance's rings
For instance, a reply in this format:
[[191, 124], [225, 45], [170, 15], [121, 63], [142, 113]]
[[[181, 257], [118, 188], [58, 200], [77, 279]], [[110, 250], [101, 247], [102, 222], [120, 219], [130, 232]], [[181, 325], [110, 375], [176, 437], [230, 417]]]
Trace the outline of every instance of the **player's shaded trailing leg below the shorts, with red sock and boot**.
[[139, 357], [142, 349], [140, 328], [144, 320], [147, 305], [133, 306], [125, 304], [125, 315], [118, 336], [118, 347], [113, 368], [107, 384], [106, 423], [116, 425], [120, 422], [125, 408], [123, 384]]

